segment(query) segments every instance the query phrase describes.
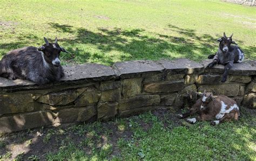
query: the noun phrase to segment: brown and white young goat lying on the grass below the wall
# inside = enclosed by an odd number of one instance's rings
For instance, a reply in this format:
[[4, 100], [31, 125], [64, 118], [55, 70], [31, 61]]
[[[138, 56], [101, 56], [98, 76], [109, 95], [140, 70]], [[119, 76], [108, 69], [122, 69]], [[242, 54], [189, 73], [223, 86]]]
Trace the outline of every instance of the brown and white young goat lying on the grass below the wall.
[[195, 118], [187, 118], [187, 122], [196, 123], [197, 121], [212, 120], [212, 125], [217, 125], [224, 121], [238, 120], [240, 116], [237, 102], [225, 96], [213, 96], [212, 93], [204, 92], [200, 99], [193, 104], [192, 108], [184, 114], [177, 115], [179, 118], [186, 118], [198, 113]]

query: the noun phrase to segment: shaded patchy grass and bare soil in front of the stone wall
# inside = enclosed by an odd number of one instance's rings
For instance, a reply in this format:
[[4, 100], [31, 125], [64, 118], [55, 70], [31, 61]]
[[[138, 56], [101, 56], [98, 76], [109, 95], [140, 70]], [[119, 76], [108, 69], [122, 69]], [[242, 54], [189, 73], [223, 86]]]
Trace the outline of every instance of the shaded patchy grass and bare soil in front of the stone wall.
[[255, 115], [242, 108], [239, 122], [213, 127], [185, 124], [159, 109], [105, 123], [37, 128], [0, 136], [0, 160], [256, 160]]

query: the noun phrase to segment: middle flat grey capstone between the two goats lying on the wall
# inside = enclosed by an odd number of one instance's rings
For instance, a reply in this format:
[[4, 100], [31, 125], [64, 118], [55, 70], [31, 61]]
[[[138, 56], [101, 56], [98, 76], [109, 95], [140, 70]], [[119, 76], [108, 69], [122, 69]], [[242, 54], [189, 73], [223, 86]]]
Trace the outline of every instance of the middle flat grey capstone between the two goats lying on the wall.
[[[164, 71], [164, 67], [150, 60], [123, 61], [113, 65], [120, 78], [134, 78]], [[143, 73], [143, 74], [142, 74]]]

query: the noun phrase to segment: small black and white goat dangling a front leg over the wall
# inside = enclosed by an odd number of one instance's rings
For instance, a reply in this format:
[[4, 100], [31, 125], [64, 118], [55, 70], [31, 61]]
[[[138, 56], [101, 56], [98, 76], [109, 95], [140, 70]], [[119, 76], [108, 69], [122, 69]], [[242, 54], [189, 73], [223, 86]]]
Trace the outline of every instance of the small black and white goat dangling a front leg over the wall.
[[[219, 38], [219, 49], [214, 55], [209, 55], [208, 58], [213, 57], [213, 61], [207, 65], [208, 68], [212, 68], [216, 64], [221, 64], [225, 66], [223, 78], [221, 82], [225, 82], [227, 80], [228, 70], [233, 67], [233, 63], [242, 62], [245, 59], [244, 52], [237, 46], [235, 41], [232, 41], [233, 33], [230, 37], [226, 37], [224, 32], [224, 37]], [[231, 44], [236, 44], [232, 46]]]

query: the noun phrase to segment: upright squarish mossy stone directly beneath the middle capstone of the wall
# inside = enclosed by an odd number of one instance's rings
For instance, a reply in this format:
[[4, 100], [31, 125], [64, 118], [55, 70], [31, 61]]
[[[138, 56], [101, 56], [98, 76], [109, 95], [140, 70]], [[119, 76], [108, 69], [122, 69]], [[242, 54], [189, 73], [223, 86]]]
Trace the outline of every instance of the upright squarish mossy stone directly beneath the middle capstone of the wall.
[[142, 93], [142, 78], [132, 78], [123, 80], [124, 97], [132, 97]]

